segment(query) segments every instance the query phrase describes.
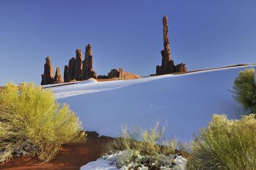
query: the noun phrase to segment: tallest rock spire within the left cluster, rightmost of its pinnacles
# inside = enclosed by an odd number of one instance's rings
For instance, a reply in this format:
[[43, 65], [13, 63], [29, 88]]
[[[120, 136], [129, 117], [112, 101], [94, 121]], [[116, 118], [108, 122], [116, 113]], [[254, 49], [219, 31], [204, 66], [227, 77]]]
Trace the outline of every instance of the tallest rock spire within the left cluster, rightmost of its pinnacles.
[[82, 80], [90, 78], [97, 79], [97, 73], [93, 70], [92, 45], [90, 43], [85, 47]]

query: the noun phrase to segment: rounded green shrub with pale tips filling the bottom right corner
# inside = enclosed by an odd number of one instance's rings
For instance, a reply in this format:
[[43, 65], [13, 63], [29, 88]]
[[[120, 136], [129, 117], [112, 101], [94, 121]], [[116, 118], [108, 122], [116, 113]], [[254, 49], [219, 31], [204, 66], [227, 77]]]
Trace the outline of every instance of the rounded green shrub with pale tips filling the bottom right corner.
[[188, 169], [255, 169], [255, 115], [241, 120], [227, 120], [225, 115], [212, 116], [207, 128], [195, 137]]

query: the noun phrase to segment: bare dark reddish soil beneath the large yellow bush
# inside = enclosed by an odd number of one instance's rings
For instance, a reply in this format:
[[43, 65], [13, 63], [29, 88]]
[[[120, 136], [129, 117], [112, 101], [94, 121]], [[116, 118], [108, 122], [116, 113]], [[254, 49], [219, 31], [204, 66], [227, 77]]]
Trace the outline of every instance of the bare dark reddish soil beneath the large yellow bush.
[[0, 169], [79, 169], [88, 162], [100, 158], [105, 144], [111, 137], [99, 137], [96, 132], [87, 132], [88, 142], [63, 144], [56, 157], [47, 164], [41, 164], [36, 157], [15, 157]]

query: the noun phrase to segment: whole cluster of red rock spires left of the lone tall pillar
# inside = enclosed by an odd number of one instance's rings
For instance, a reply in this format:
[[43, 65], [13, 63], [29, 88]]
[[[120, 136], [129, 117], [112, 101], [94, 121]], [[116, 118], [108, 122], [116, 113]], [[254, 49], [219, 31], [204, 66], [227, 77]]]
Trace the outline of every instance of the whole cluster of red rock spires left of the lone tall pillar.
[[60, 73], [60, 68], [56, 68], [55, 76], [53, 77], [53, 66], [51, 64], [51, 58], [47, 57], [44, 65], [44, 74], [42, 75], [41, 84], [53, 84], [70, 81], [83, 81], [90, 78], [93, 79], [137, 79], [141, 78], [140, 75], [125, 72], [123, 68], [112, 69], [107, 75], [99, 75], [93, 70], [93, 58], [92, 58], [92, 45], [90, 43], [86, 45], [84, 52], [84, 60], [81, 49], [76, 49], [76, 58], [71, 58], [68, 61], [68, 65], [64, 68], [64, 81]]

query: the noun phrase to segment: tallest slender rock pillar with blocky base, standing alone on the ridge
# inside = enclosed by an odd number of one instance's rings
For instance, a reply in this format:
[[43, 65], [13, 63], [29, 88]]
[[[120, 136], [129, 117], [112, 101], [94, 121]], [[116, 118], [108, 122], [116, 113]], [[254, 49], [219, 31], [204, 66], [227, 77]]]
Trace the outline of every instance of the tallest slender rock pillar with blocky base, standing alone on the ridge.
[[[163, 17], [163, 38], [164, 38], [164, 50], [161, 50], [162, 65], [156, 66], [156, 75], [163, 75], [174, 72], [186, 72], [187, 68], [185, 64], [180, 63], [175, 66], [174, 61], [171, 59], [171, 50], [169, 46], [169, 35], [168, 35], [168, 17]], [[178, 68], [176, 68], [178, 67]]]

